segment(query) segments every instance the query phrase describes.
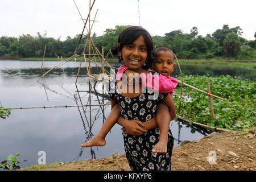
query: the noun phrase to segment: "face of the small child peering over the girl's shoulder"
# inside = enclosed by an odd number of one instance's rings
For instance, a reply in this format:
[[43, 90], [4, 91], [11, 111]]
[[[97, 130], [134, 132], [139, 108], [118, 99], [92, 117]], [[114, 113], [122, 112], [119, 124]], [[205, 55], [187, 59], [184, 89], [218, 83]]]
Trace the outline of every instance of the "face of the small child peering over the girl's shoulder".
[[174, 55], [170, 51], [159, 51], [156, 53], [156, 61], [153, 63], [154, 71], [161, 73], [163, 76], [170, 76], [174, 71]]

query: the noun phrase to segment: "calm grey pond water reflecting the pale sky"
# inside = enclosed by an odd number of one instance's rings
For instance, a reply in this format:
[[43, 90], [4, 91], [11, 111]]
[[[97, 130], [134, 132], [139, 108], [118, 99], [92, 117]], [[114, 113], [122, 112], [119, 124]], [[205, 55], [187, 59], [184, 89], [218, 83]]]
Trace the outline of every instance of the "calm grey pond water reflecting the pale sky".
[[[45, 61], [45, 71], [59, 63]], [[75, 85], [79, 64], [70, 61], [64, 64], [64, 75], [60, 67], [37, 82], [42, 76], [41, 61], [0, 60], [0, 106], [9, 108], [89, 104], [89, 94], [85, 92], [89, 90], [88, 77], [79, 77], [77, 86]], [[97, 73], [97, 69], [93, 67], [92, 73]], [[183, 72], [185, 73], [184, 69]], [[80, 75], [85, 73], [85, 65], [82, 65]], [[102, 84], [105, 88], [103, 91]], [[95, 86], [98, 93], [107, 93], [107, 88], [107, 82], [98, 82]], [[102, 103], [102, 100], [105, 104], [110, 103], [104, 97], [91, 94], [91, 104]], [[115, 125], [107, 135], [106, 146], [80, 147], [81, 143], [100, 131], [109, 113], [110, 106], [11, 110], [9, 117], [0, 118], [0, 162], [16, 152], [20, 153], [20, 167], [38, 164], [39, 151], [46, 152], [47, 164], [104, 158], [112, 156], [113, 152], [124, 154], [119, 125]], [[199, 140], [209, 134], [207, 130], [176, 120], [171, 122], [170, 128], [175, 145], [183, 140]]]

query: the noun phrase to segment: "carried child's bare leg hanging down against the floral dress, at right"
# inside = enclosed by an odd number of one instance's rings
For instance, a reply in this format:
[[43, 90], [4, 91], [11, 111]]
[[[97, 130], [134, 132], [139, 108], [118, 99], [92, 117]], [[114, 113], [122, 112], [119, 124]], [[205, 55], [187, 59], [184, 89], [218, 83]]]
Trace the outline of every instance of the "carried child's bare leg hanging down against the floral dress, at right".
[[167, 152], [168, 143], [168, 131], [171, 122], [171, 116], [168, 107], [163, 103], [159, 102], [156, 112], [156, 123], [160, 129], [159, 141], [152, 148], [152, 152], [158, 152], [165, 154]]

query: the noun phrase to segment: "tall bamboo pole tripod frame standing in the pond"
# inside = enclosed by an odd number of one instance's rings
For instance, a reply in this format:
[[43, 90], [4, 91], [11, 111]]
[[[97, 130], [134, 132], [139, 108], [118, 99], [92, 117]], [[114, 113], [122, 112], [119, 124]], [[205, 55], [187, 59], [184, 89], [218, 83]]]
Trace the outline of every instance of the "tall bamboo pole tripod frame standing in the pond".
[[[91, 89], [92, 89], [92, 80], [91, 80], [91, 78], [96, 80], [96, 83], [94, 84], [94, 86], [97, 84], [98, 81], [109, 80], [110, 76], [108, 76], [108, 75], [110, 75], [110, 73], [105, 69], [105, 66], [107, 66], [110, 69], [112, 69], [113, 73], [115, 73], [114, 70], [113, 70], [113, 68], [115, 68], [115, 67], [110, 66], [108, 61], [106, 61], [108, 59], [108, 56], [110, 55], [111, 49], [109, 49], [106, 57], [104, 57], [104, 47], [102, 47], [101, 52], [100, 52], [98, 50], [98, 48], [95, 46], [95, 44], [94, 44], [94, 42], [93, 42], [93, 40], [92, 40], [92, 38], [90, 36], [90, 34], [92, 32], [92, 27], [93, 27], [94, 22], [97, 22], [95, 19], [96, 19], [96, 15], [98, 13], [98, 10], [96, 11], [96, 14], [94, 15], [93, 20], [90, 19], [92, 8], [93, 8], [93, 5], [94, 5], [95, 1], [96, 0], [94, 0], [93, 3], [91, 3], [91, 0], [89, 1], [89, 13], [88, 13], [87, 18], [84, 19], [81, 16], [81, 13], [79, 11], [79, 8], [76, 5], [75, 0], [73, 0], [73, 2], [75, 3], [76, 9], [79, 12], [79, 15], [81, 17], [80, 19], [84, 23], [84, 27], [82, 29], [82, 33], [80, 35], [79, 42], [77, 43], [75, 52], [74, 52], [74, 54], [71, 57], [69, 57], [68, 59], [65, 59], [65, 60], [63, 60], [63, 58], [61, 56], [61, 63], [57, 64], [55, 67], [49, 69], [47, 72], [44, 72], [44, 69], [43, 69], [43, 72], [42, 72], [42, 69], [41, 69], [42, 76], [38, 79], [38, 82], [39, 82], [48, 73], [51, 73], [51, 72], [55, 71], [55, 69], [57, 69], [57, 68], [59, 68], [61, 66], [62, 66], [62, 69], [63, 69], [63, 78], [64, 78], [64, 66], [63, 65], [65, 63], [67, 63], [68, 61], [70, 61], [70, 60], [73, 60], [73, 59], [76, 60], [76, 58], [80, 58], [81, 60], [80, 60], [79, 69], [77, 71], [77, 75], [75, 76], [76, 77], [75, 85], [77, 85], [77, 80], [78, 80], [79, 77], [89, 77], [89, 104], [86, 105], [86, 106], [93, 106], [91, 104], [91, 101], [90, 101], [90, 94], [91, 94]], [[92, 24], [91, 24], [91, 22], [92, 22]], [[87, 35], [88, 35], [87, 39], [86, 39], [86, 42], [85, 42], [85, 46], [83, 48], [82, 55], [77, 55], [77, 50], [79, 48], [79, 45], [81, 43], [82, 36], [84, 35], [84, 31], [85, 30], [87, 31]], [[87, 53], [85, 53], [86, 49], [88, 49]], [[45, 52], [46, 52], [46, 47], [44, 49], [44, 55], [45, 55]], [[86, 65], [86, 71], [87, 71], [86, 75], [80, 75], [81, 65], [82, 65], [83, 62]], [[98, 63], [98, 62], [100, 62], [100, 63]], [[100, 72], [98, 72], [98, 74], [92, 74], [91, 73], [91, 64], [92, 63], [94, 63], [96, 65], [97, 70], [98, 70], [99, 67], [101, 68]], [[43, 56], [43, 60], [42, 60], [42, 68], [43, 68], [43, 65], [44, 65], [44, 56]], [[103, 76], [100, 77], [99, 75], [101, 75], [101, 74]], [[104, 90], [104, 84], [102, 84], [102, 90]], [[102, 100], [102, 102], [103, 102], [102, 105], [105, 105], [104, 104], [104, 100]], [[98, 105], [96, 105], [96, 106], [98, 106]], [[40, 107], [40, 108], [45, 108], [45, 107]]]

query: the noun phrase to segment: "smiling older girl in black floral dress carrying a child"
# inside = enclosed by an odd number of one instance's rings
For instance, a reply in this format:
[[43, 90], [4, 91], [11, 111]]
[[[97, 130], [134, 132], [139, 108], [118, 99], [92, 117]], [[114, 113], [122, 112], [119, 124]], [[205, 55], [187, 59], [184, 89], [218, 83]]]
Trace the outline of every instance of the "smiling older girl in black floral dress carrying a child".
[[[117, 47], [112, 52], [114, 55], [119, 55], [119, 60], [123, 60], [129, 70], [139, 74], [154, 74], [155, 72], [147, 71], [144, 66], [144, 64], [148, 65], [148, 57], [152, 49], [153, 43], [150, 34], [142, 27], [133, 26], [126, 28], [119, 35]], [[113, 81], [114, 84], [112, 84]], [[159, 128], [155, 128], [156, 122], [150, 122], [156, 116], [156, 105], [160, 100], [166, 104], [168, 110], [173, 111], [175, 109], [171, 105], [170, 94], [161, 93], [155, 100], [150, 100], [149, 96], [152, 96], [152, 93], [144, 93], [141, 82], [138, 84], [138, 93], [135, 92], [135, 87], [133, 90], [128, 89], [129, 82], [127, 81], [120, 85], [119, 80], [110, 80], [109, 85], [112, 109], [115, 109], [115, 106], [119, 104], [121, 117], [126, 119], [118, 119], [118, 124], [123, 126], [128, 133], [123, 132], [123, 139], [130, 168], [132, 170], [170, 170], [174, 144], [171, 130], [168, 129], [166, 154], [154, 154], [151, 151], [157, 143], [156, 139], [159, 138], [160, 132]], [[114, 125], [115, 119], [113, 119], [113, 123], [110, 123], [111, 119], [106, 119], [102, 125], [104, 129], [101, 131], [108, 131]], [[86, 146], [86, 143], [82, 146]]]

